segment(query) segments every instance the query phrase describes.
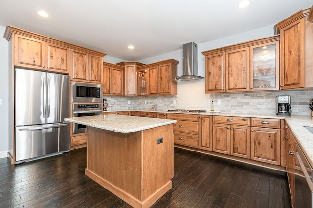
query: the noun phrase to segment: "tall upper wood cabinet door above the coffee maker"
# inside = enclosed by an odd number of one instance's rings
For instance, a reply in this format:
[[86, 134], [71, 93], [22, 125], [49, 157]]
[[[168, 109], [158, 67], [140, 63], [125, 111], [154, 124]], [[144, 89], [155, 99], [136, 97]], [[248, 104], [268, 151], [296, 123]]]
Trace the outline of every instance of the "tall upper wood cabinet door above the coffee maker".
[[305, 18], [280, 29], [281, 89], [304, 87]]

